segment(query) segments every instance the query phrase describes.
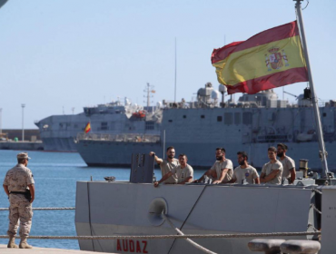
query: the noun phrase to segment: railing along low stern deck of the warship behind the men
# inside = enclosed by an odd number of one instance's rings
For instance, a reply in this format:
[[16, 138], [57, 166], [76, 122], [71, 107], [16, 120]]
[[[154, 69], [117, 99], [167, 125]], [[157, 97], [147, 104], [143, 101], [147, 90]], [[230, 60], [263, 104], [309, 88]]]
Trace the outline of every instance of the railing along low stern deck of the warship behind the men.
[[109, 141], [109, 142], [160, 142], [160, 135], [125, 133], [78, 133], [77, 141]]

